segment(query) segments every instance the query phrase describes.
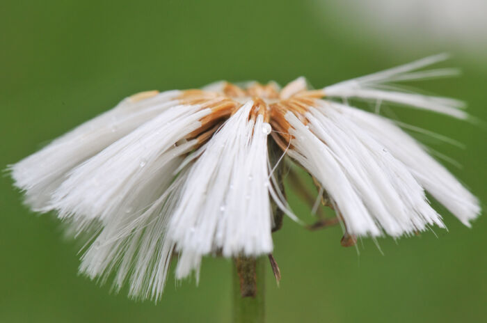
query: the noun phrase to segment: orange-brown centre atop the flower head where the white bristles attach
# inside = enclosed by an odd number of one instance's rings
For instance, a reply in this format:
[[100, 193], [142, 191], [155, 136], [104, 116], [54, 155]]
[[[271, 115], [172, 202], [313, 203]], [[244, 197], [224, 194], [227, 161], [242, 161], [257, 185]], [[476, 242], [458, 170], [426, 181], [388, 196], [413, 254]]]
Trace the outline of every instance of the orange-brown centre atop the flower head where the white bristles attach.
[[292, 81], [280, 89], [276, 84], [253, 83], [246, 87], [225, 83], [220, 91], [184, 90], [179, 96], [181, 104], [200, 104], [211, 109], [211, 113], [200, 120], [201, 127], [191, 132], [187, 139], [198, 139], [205, 143], [223, 122], [249, 100], [253, 101], [250, 119], [262, 115], [264, 122], [272, 128], [271, 136], [282, 150], [289, 148], [292, 136], [285, 114], [293, 112], [304, 124], [308, 123], [305, 113], [316, 100], [324, 97], [323, 90], [308, 90], [302, 79]]

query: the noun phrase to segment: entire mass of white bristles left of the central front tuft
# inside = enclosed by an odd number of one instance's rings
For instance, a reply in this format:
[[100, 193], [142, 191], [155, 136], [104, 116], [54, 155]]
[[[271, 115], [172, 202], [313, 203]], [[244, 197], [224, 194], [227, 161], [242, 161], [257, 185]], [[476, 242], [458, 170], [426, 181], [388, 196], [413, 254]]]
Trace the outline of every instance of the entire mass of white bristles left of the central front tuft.
[[[93, 235], [82, 257], [82, 273], [102, 281], [115, 273], [115, 290], [128, 280], [129, 294], [141, 299], [161, 297], [174, 249], [166, 230], [190, 165], [176, 180], [175, 171], [198, 144], [184, 138], [211, 113], [168, 99], [177, 93], [139, 103], [124, 100], [13, 167], [18, 173], [36, 159], [59, 159], [59, 170], [41, 164], [30, 178], [24, 176], [29, 184], [24, 189], [45, 191], [42, 211], [58, 211], [74, 234]], [[116, 135], [110, 130], [115, 125]]]

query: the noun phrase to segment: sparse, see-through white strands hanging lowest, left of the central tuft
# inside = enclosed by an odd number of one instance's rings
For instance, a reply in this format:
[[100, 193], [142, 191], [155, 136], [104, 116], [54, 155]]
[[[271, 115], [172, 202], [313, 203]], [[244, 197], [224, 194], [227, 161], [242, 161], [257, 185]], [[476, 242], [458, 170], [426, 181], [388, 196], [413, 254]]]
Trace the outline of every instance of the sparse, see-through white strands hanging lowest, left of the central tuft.
[[[180, 159], [175, 159], [180, 161]], [[177, 163], [168, 168], [174, 168]], [[120, 214], [107, 223], [83, 255], [80, 271], [103, 281], [115, 271], [115, 290], [128, 279], [129, 294], [158, 300], [163, 292], [174, 243], [167, 228], [188, 168], [157, 200], [139, 214]]]

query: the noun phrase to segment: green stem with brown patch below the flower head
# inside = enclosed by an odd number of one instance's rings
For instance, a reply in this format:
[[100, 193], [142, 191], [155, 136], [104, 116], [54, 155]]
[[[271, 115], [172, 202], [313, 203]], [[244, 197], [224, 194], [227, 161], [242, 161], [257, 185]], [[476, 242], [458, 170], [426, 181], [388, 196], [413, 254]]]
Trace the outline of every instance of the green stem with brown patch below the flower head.
[[238, 257], [234, 259], [233, 322], [264, 322], [265, 258]]

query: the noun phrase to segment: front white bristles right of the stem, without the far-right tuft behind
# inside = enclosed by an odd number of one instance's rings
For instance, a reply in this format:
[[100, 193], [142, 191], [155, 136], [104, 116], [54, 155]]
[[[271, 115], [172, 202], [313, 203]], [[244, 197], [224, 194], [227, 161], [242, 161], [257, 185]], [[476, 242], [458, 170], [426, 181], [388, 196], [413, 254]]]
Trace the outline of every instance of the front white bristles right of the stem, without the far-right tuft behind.
[[[424, 191], [401, 162], [367, 133], [336, 114], [310, 109], [309, 129], [293, 113], [292, 144], [298, 160], [319, 180], [333, 199], [352, 235], [399, 237], [442, 226]], [[324, 162], [325, 161], [325, 162]]]

